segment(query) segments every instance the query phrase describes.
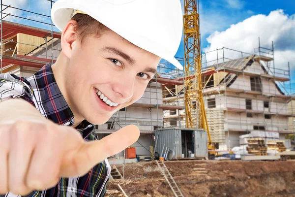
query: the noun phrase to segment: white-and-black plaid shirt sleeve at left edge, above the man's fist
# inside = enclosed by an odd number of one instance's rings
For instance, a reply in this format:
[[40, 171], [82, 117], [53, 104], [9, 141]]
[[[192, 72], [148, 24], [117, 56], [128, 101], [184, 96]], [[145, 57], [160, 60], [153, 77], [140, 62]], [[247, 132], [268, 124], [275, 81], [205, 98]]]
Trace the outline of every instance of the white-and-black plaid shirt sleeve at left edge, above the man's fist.
[[24, 99], [33, 104], [33, 92], [28, 84], [12, 75], [0, 74], [0, 102], [7, 99]]

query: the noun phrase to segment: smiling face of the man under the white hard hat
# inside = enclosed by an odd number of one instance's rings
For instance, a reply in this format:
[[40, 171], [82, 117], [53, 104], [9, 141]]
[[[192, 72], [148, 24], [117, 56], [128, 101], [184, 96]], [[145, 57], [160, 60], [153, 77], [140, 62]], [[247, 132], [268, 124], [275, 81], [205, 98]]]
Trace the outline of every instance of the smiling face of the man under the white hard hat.
[[143, 96], [161, 58], [111, 30], [83, 39], [71, 43], [65, 76], [67, 101], [75, 116], [104, 124]]

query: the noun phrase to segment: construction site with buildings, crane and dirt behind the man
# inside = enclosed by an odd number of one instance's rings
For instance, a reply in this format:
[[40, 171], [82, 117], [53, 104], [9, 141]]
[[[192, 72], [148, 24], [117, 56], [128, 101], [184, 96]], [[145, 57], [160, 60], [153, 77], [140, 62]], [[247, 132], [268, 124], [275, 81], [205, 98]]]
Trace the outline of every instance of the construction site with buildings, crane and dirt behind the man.
[[[294, 63], [276, 67], [274, 44], [258, 37], [249, 40], [255, 53], [224, 46], [202, 54], [198, 2], [182, 6], [184, 69], [162, 61], [140, 100], [95, 126], [98, 139], [127, 125], [141, 132], [108, 158], [106, 196], [295, 196]], [[28, 12], [46, 20], [18, 15]], [[1, 1], [0, 29], [1, 73], [29, 77], [56, 62], [61, 32], [50, 16]]]

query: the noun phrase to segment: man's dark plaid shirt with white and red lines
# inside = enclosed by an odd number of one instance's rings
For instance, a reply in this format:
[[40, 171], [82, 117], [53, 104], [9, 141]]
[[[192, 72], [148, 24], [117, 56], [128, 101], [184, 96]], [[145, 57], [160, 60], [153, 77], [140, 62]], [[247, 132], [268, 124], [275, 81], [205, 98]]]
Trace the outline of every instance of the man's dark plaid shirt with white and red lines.
[[[0, 74], [0, 101], [11, 98], [27, 100], [40, 111], [42, 116], [59, 125], [74, 125], [74, 115], [58, 88], [50, 64], [43, 66], [28, 79], [9, 73]], [[76, 129], [81, 132], [85, 140], [94, 139], [91, 133], [94, 125], [86, 120]], [[26, 197], [103, 197], [110, 173], [111, 167], [106, 159], [94, 166], [85, 176], [60, 178], [56, 187], [33, 191]], [[0, 195], [0, 197], [16, 196], [12, 193]]]

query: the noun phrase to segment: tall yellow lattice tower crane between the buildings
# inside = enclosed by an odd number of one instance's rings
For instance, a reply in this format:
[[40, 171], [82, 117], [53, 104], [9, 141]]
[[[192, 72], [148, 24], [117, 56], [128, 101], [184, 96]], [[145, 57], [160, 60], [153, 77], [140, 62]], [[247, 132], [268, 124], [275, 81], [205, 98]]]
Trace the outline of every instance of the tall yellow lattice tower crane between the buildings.
[[208, 150], [214, 150], [202, 93], [200, 18], [197, 6], [197, 0], [184, 0], [185, 121], [187, 128], [207, 131]]

